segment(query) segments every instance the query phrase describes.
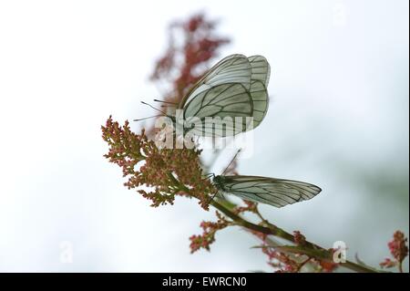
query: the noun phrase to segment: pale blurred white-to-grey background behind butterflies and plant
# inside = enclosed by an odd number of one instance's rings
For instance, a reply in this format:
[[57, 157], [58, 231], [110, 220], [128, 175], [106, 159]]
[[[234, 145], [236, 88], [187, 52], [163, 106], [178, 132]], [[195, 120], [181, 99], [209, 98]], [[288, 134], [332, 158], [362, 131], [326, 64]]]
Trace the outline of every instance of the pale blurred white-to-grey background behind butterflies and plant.
[[[238, 228], [220, 232], [210, 253], [190, 255], [188, 238], [213, 213], [183, 198], [149, 207], [102, 157], [100, 125], [110, 114], [151, 113], [139, 101], [160, 97], [148, 77], [167, 26], [199, 11], [232, 38], [220, 57], [271, 63], [271, 107], [241, 173], [323, 188], [309, 202], [261, 211], [323, 246], [342, 240], [350, 259], [358, 252], [376, 265], [396, 229], [409, 234], [408, 8], [406, 0], [1, 1], [0, 271], [270, 270]], [[67, 247], [70, 264], [61, 260]]]

